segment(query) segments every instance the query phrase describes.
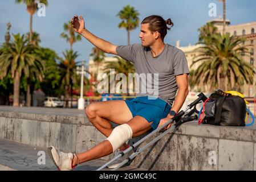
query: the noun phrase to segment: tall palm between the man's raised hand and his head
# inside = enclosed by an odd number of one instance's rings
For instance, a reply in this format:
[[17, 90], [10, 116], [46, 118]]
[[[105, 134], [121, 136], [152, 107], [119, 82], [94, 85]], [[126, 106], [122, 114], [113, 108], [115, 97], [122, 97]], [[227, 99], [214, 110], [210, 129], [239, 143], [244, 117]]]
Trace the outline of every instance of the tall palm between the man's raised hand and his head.
[[130, 31], [139, 26], [139, 13], [135, 10], [134, 7], [127, 5], [123, 8], [123, 10], [119, 11], [117, 14], [119, 18], [122, 20], [118, 27], [126, 28], [127, 36], [128, 36], [128, 45], [130, 44]]

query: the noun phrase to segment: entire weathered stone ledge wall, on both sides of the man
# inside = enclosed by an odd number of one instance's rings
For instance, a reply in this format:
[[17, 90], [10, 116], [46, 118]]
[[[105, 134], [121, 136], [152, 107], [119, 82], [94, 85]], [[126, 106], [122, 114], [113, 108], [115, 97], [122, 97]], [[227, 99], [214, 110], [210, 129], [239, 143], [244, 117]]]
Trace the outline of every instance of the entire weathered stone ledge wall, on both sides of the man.
[[[85, 117], [9, 111], [0, 111], [0, 138], [32, 146], [53, 145], [66, 152], [82, 152], [105, 139]], [[175, 134], [165, 135], [138, 155], [132, 164], [149, 170], [255, 170], [256, 130], [185, 123]]]

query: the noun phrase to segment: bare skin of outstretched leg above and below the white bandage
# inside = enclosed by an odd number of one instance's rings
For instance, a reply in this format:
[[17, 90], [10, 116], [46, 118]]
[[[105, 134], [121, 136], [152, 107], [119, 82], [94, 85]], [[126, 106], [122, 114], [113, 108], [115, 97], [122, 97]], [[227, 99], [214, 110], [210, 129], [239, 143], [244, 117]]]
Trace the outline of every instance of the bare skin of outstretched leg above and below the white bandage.
[[[140, 116], [136, 116], [127, 122], [127, 124], [132, 129], [132, 137], [137, 137], [150, 130], [151, 123], [149, 123], [145, 118]], [[84, 163], [87, 162], [88, 160], [97, 159], [109, 155], [112, 152], [113, 148], [111, 143], [108, 140], [104, 140], [103, 142], [97, 144], [95, 147], [92, 147], [90, 150], [87, 150], [80, 154], [76, 154], [76, 156], [79, 159], [79, 163]], [[78, 159], [73, 159], [73, 166], [78, 164]]]

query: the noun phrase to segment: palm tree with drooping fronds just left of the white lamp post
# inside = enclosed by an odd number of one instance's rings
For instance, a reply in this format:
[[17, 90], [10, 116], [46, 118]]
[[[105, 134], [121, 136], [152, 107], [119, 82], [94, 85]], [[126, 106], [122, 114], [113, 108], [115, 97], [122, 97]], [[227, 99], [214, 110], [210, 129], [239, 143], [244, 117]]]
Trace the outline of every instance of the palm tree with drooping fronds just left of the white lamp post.
[[70, 90], [72, 94], [72, 85], [77, 81], [78, 76], [76, 75], [76, 66], [78, 62], [75, 62], [76, 57], [78, 57], [78, 53], [66, 50], [63, 52], [64, 59], [60, 60], [59, 68], [60, 68], [60, 81], [62, 86], [64, 87], [65, 92], [65, 107], [67, 107], [67, 101], [70, 97]]

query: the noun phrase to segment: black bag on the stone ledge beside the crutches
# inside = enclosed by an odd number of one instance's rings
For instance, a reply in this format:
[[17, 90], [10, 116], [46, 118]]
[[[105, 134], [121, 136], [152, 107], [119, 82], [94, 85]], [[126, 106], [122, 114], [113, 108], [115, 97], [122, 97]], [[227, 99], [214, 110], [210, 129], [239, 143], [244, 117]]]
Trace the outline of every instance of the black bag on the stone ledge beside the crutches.
[[203, 123], [221, 126], [245, 126], [246, 103], [242, 97], [216, 90], [205, 103]]

